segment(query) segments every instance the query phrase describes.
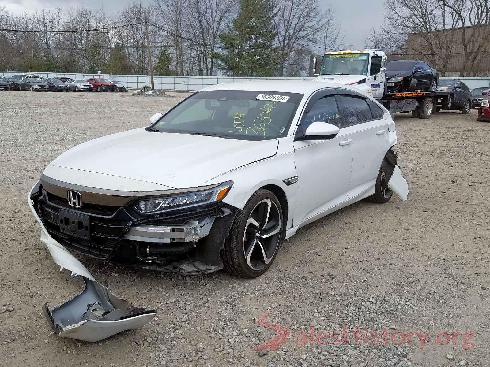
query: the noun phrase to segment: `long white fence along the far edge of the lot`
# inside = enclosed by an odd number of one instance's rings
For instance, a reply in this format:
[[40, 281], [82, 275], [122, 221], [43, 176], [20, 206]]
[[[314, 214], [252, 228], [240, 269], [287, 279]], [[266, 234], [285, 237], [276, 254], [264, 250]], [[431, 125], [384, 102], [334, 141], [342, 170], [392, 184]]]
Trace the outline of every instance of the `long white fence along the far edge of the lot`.
[[[43, 78], [54, 78], [56, 76], [66, 76], [71, 79], [97, 78], [97, 74], [68, 74], [68, 73], [50, 73], [50, 72], [34, 72], [34, 71], [0, 71], [2, 76], [38, 74]], [[102, 74], [101, 78], [116, 80], [121, 82], [129, 89], [138, 89], [145, 85], [151, 85], [149, 75], [108, 75]], [[203, 88], [231, 82], [243, 82], [249, 80], [312, 80], [313, 78], [265, 78], [265, 77], [227, 77], [227, 76], [153, 76], [156, 89], [166, 91], [199, 91]], [[448, 78], [441, 79], [459, 79], [465, 83], [469, 89], [478, 87], [490, 87], [490, 78]]]

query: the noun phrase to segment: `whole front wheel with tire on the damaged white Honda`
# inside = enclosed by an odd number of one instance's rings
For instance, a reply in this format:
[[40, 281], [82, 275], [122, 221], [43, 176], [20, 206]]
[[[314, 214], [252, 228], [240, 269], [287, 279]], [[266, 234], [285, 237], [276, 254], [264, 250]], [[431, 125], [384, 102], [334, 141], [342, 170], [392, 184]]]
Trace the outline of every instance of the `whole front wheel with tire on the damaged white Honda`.
[[224, 270], [243, 278], [264, 274], [283, 239], [284, 220], [279, 200], [269, 190], [257, 190], [235, 216], [221, 250]]

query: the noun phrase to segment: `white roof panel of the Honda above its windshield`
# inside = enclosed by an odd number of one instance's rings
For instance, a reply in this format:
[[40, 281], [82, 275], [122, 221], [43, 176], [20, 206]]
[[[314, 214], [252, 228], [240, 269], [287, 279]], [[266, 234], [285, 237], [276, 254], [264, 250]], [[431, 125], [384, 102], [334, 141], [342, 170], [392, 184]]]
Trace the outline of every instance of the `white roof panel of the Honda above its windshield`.
[[313, 82], [309, 80], [261, 80], [222, 83], [201, 89], [203, 91], [269, 91], [311, 94], [325, 88], [344, 88], [355, 92], [359, 89], [338, 83]]

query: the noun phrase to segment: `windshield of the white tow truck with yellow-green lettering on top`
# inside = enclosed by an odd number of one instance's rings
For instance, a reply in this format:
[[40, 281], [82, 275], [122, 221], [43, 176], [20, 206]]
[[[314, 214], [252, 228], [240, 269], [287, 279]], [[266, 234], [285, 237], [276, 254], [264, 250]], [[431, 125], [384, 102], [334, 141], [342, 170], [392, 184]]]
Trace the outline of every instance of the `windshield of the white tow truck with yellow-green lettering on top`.
[[368, 75], [368, 53], [324, 55], [320, 75]]

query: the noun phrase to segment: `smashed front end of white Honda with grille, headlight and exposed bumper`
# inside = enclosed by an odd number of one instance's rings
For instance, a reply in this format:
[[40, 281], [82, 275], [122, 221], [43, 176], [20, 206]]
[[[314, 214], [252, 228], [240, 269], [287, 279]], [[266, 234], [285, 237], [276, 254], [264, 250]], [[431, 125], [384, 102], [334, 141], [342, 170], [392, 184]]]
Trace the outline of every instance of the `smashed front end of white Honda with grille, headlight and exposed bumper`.
[[122, 193], [43, 175], [29, 198], [47, 236], [70, 250], [139, 269], [207, 274], [223, 267], [221, 249], [237, 209], [221, 200], [232, 184]]

